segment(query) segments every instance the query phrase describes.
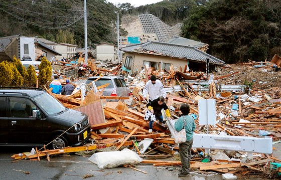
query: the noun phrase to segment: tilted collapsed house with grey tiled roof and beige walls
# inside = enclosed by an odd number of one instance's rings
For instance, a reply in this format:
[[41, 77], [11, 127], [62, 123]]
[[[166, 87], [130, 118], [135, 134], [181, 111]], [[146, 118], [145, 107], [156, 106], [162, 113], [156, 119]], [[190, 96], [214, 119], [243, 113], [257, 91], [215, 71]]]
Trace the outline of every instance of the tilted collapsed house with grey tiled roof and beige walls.
[[125, 52], [122, 69], [130, 73], [141, 71], [144, 66], [169, 71], [171, 65], [174, 67], [185, 67], [187, 65], [187, 71], [192, 69], [193, 71], [206, 72], [207, 59], [209, 59], [209, 69], [224, 64], [224, 61], [192, 46], [171, 43], [150, 41], [130, 45], [120, 50]]

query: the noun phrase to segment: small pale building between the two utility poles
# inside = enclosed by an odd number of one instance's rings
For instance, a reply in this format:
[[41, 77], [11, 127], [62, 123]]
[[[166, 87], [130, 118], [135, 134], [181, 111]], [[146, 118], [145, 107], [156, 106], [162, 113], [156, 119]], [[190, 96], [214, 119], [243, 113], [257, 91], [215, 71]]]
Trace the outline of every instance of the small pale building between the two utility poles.
[[101, 44], [96, 46], [96, 59], [97, 60], [115, 60], [114, 59], [114, 46]]

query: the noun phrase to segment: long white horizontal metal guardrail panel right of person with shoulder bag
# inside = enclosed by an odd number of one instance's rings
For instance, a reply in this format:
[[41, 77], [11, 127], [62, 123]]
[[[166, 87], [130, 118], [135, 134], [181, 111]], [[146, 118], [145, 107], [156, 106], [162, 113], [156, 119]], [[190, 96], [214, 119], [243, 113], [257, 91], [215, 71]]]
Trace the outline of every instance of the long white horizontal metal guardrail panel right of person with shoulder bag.
[[246, 152], [272, 153], [272, 138], [244, 137], [216, 134], [194, 134], [192, 148], [224, 149]]

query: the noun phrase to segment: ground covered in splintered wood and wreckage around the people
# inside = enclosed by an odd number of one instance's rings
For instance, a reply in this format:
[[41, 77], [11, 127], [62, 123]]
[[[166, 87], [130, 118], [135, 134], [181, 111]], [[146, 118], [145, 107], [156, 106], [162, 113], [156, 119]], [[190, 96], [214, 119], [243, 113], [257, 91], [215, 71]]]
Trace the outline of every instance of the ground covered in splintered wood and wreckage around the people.
[[[79, 58], [80, 59], [80, 58]], [[81, 147], [67, 147], [63, 150], [39, 151], [33, 155], [15, 154], [14, 159], [39, 159], [39, 157], [65, 152], [93, 154], [98, 149], [117, 151], [127, 147], [143, 158], [141, 163], [154, 166], [179, 166], [178, 144], [175, 143], [166, 123], [155, 122], [153, 133], [148, 131], [148, 121], [144, 120], [147, 100], [142, 96], [142, 89], [151, 75], [156, 75], [165, 85], [167, 105], [172, 117], [179, 117], [181, 103], [189, 103], [191, 113], [196, 122], [196, 133], [207, 133], [206, 125], [199, 125], [198, 100], [215, 99], [216, 124], [209, 125], [209, 134], [263, 137], [271, 136], [273, 143], [281, 138], [281, 71], [280, 67], [271, 62], [250, 62], [225, 65], [213, 72], [212, 82], [205, 73], [187, 73], [171, 67], [170, 71], [154, 71], [148, 67], [143, 71], [128, 75], [121, 69], [121, 63], [88, 61], [83, 66], [83, 59], [78, 65], [65, 66], [57, 63], [55, 73], [61, 75], [60, 81], [66, 79], [75, 82], [75, 90], [70, 96], [53, 94], [66, 107], [85, 112], [92, 125], [91, 143]], [[79, 64], [80, 63], [80, 64]], [[59, 64], [59, 65], [58, 65]], [[68, 69], [67, 69], [68, 68]], [[78, 76], [67, 76], [67, 70], [78, 68]], [[69, 70], [70, 69], [70, 70]], [[65, 75], [62, 75], [65, 74]], [[129, 84], [129, 97], [104, 97], [105, 88], [97, 87], [94, 91], [85, 86], [85, 94], [81, 92], [81, 83], [91, 76], [124, 76]], [[119, 100], [118, 102], [111, 102]], [[200, 118], [200, 116], [199, 116]], [[150, 140], [151, 139], [151, 140]], [[144, 141], [149, 144], [145, 144]], [[257, 144], [262, 146], [263, 144]], [[110, 148], [108, 148], [110, 147]], [[271, 147], [268, 147], [271, 148]], [[274, 150], [274, 149], [273, 149]], [[173, 160], [171, 158], [173, 157]], [[169, 160], [165, 160], [170, 158]], [[191, 168], [202, 173], [215, 171], [232, 174], [258, 174], [266, 178], [276, 177], [281, 160], [272, 154], [253, 153], [248, 158], [244, 151], [211, 149], [210, 162], [204, 161], [204, 149], [194, 148]], [[153, 160], [152, 160], [153, 159]], [[202, 162], [202, 160], [204, 162]], [[273, 162], [273, 163], [272, 163]], [[227, 177], [226, 177], [227, 179]]]

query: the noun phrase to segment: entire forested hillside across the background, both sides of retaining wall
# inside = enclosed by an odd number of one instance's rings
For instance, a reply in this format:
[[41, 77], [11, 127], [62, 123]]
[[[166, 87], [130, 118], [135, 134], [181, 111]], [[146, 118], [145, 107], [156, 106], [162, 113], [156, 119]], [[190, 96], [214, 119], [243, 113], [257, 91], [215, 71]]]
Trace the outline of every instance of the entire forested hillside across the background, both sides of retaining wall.
[[[0, 0], [0, 37], [21, 34], [84, 47], [84, 1]], [[165, 0], [115, 7], [87, 0], [88, 45], [116, 44], [117, 13], [150, 13], [169, 25], [184, 23], [182, 36], [209, 44], [207, 53], [236, 63], [281, 54], [279, 0]], [[120, 22], [121, 23], [121, 22]], [[120, 35], [126, 32], [120, 30]]]

